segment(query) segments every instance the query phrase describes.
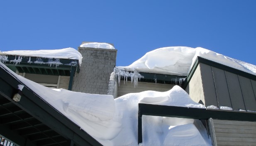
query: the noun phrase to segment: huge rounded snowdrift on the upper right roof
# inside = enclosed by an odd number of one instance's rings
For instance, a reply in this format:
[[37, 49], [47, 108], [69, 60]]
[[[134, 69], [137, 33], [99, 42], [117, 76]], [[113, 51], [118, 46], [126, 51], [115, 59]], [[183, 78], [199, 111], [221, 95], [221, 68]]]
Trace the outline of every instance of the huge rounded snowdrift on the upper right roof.
[[184, 46], [159, 48], [146, 53], [129, 66], [117, 68], [129, 71], [135, 69], [146, 73], [187, 75], [197, 56], [256, 75], [256, 66], [252, 64], [201, 47], [194, 49]]

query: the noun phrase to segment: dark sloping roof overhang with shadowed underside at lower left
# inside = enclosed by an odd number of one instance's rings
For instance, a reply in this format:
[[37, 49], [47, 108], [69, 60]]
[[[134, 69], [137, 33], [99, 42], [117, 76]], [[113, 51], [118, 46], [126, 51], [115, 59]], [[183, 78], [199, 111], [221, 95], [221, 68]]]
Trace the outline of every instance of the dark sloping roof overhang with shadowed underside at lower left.
[[20, 101], [12, 100], [20, 84], [24, 85], [0, 68], [0, 128], [5, 127], [0, 129], [2, 136], [20, 146], [102, 146], [26, 85], [20, 91]]

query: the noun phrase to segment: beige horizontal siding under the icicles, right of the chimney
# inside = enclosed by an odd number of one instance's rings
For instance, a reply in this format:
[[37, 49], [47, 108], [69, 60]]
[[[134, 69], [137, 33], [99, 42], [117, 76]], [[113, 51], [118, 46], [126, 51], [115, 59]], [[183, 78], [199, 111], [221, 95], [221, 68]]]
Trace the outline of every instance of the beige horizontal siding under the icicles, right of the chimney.
[[146, 83], [146, 82], [139, 82], [138, 86], [134, 88], [134, 84], [131, 83], [131, 81], [127, 81], [127, 83], [121, 80], [120, 86], [117, 88], [117, 97], [120, 97], [122, 95], [128, 94], [128, 93], [137, 93], [147, 90], [153, 90], [153, 91], [168, 91], [171, 88], [173, 88], [174, 85], [170, 84], [158, 84], [158, 83]]

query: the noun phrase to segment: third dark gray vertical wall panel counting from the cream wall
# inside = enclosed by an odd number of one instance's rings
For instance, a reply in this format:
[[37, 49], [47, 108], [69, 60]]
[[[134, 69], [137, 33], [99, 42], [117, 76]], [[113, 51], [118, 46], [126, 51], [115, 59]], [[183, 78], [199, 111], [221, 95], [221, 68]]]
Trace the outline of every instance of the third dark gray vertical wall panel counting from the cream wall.
[[233, 110], [246, 110], [238, 75], [225, 71]]

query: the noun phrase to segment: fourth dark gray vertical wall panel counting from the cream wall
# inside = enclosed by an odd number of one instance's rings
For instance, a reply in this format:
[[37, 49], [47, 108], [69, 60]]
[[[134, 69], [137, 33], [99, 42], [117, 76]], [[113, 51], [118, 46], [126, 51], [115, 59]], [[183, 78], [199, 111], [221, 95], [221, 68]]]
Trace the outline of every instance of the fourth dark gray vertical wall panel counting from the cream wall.
[[246, 110], [256, 111], [256, 98], [249, 78], [238, 75]]

